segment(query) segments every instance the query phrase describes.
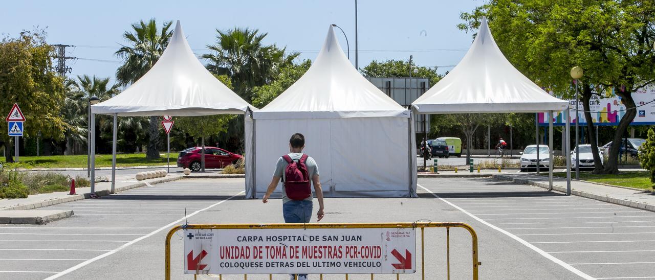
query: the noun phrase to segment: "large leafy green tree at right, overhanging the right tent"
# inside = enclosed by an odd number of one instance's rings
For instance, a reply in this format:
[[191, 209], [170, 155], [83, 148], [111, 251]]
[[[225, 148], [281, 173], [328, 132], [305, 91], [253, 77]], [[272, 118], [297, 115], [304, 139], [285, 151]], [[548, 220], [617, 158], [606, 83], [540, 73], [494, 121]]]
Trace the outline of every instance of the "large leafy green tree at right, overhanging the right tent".
[[[569, 69], [582, 67], [583, 107], [597, 92], [613, 90], [626, 105], [614, 133], [619, 143], [637, 110], [631, 96], [655, 81], [655, 3], [652, 0], [491, 0], [470, 13], [462, 29], [476, 29], [482, 16], [505, 56], [523, 74], [562, 97], [573, 94]], [[591, 119], [590, 113], [585, 113]], [[588, 139], [595, 145], [589, 125]], [[594, 152], [595, 162], [599, 155]], [[618, 173], [619, 147], [612, 147], [596, 173]]]

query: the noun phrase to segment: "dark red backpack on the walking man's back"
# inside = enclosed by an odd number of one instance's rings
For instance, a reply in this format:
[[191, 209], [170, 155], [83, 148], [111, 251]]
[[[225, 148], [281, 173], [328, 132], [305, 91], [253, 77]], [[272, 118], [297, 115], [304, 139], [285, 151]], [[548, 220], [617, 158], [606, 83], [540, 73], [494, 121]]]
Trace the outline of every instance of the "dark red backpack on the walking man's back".
[[284, 190], [287, 197], [291, 200], [304, 200], [312, 196], [311, 183], [309, 182], [309, 171], [305, 162], [307, 161], [307, 154], [303, 154], [298, 162], [291, 160], [288, 154], [282, 156], [288, 163], [284, 169]]

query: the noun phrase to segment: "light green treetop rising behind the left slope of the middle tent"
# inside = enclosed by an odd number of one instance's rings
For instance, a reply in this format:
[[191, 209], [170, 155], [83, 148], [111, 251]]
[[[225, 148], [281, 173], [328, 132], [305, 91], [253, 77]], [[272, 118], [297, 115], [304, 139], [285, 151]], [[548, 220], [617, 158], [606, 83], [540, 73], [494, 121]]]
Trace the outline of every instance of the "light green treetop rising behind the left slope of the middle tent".
[[312, 66], [312, 61], [305, 60], [298, 65], [290, 63], [289, 65], [282, 67], [277, 79], [269, 84], [255, 86], [255, 88], [253, 88], [252, 105], [257, 108], [262, 108], [268, 103], [271, 103], [273, 99], [287, 90], [291, 84], [295, 83], [295, 81], [305, 75], [305, 72], [307, 72], [310, 66]]

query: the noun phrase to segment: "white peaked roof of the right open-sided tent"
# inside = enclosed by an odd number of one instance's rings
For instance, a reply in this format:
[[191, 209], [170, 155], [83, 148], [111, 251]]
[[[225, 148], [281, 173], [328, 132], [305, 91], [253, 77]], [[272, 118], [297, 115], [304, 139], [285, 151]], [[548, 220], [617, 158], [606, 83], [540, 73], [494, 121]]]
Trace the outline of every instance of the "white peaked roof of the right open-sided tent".
[[569, 103], [550, 96], [512, 66], [491, 36], [487, 19], [462, 61], [412, 103], [419, 113], [535, 113]]

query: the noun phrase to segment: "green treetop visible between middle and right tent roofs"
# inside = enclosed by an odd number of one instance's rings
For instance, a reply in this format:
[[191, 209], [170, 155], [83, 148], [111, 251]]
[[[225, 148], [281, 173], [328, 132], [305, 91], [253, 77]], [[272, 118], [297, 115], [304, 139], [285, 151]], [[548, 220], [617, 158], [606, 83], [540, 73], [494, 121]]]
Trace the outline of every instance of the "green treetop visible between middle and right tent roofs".
[[[418, 72], [412, 72], [412, 77], [428, 78], [430, 79], [430, 86], [434, 86], [443, 77], [437, 73], [436, 67], [430, 68], [416, 65], [414, 67]], [[361, 71], [362, 75], [369, 77], [409, 77], [409, 61], [386, 60], [379, 62], [373, 60], [369, 65], [362, 68]]]

